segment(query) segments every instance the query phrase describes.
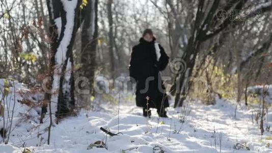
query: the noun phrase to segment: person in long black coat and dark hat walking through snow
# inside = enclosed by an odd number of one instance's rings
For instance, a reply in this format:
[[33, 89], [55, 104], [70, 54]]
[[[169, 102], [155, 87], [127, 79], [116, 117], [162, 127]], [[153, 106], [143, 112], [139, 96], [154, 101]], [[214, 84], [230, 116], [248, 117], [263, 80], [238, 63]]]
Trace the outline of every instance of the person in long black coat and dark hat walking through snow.
[[156, 108], [160, 117], [167, 117], [169, 102], [159, 71], [166, 68], [169, 57], [155, 40], [152, 30], [146, 29], [140, 43], [132, 47], [129, 76], [137, 83], [136, 105], [143, 108], [143, 115], [150, 117], [149, 109]]

